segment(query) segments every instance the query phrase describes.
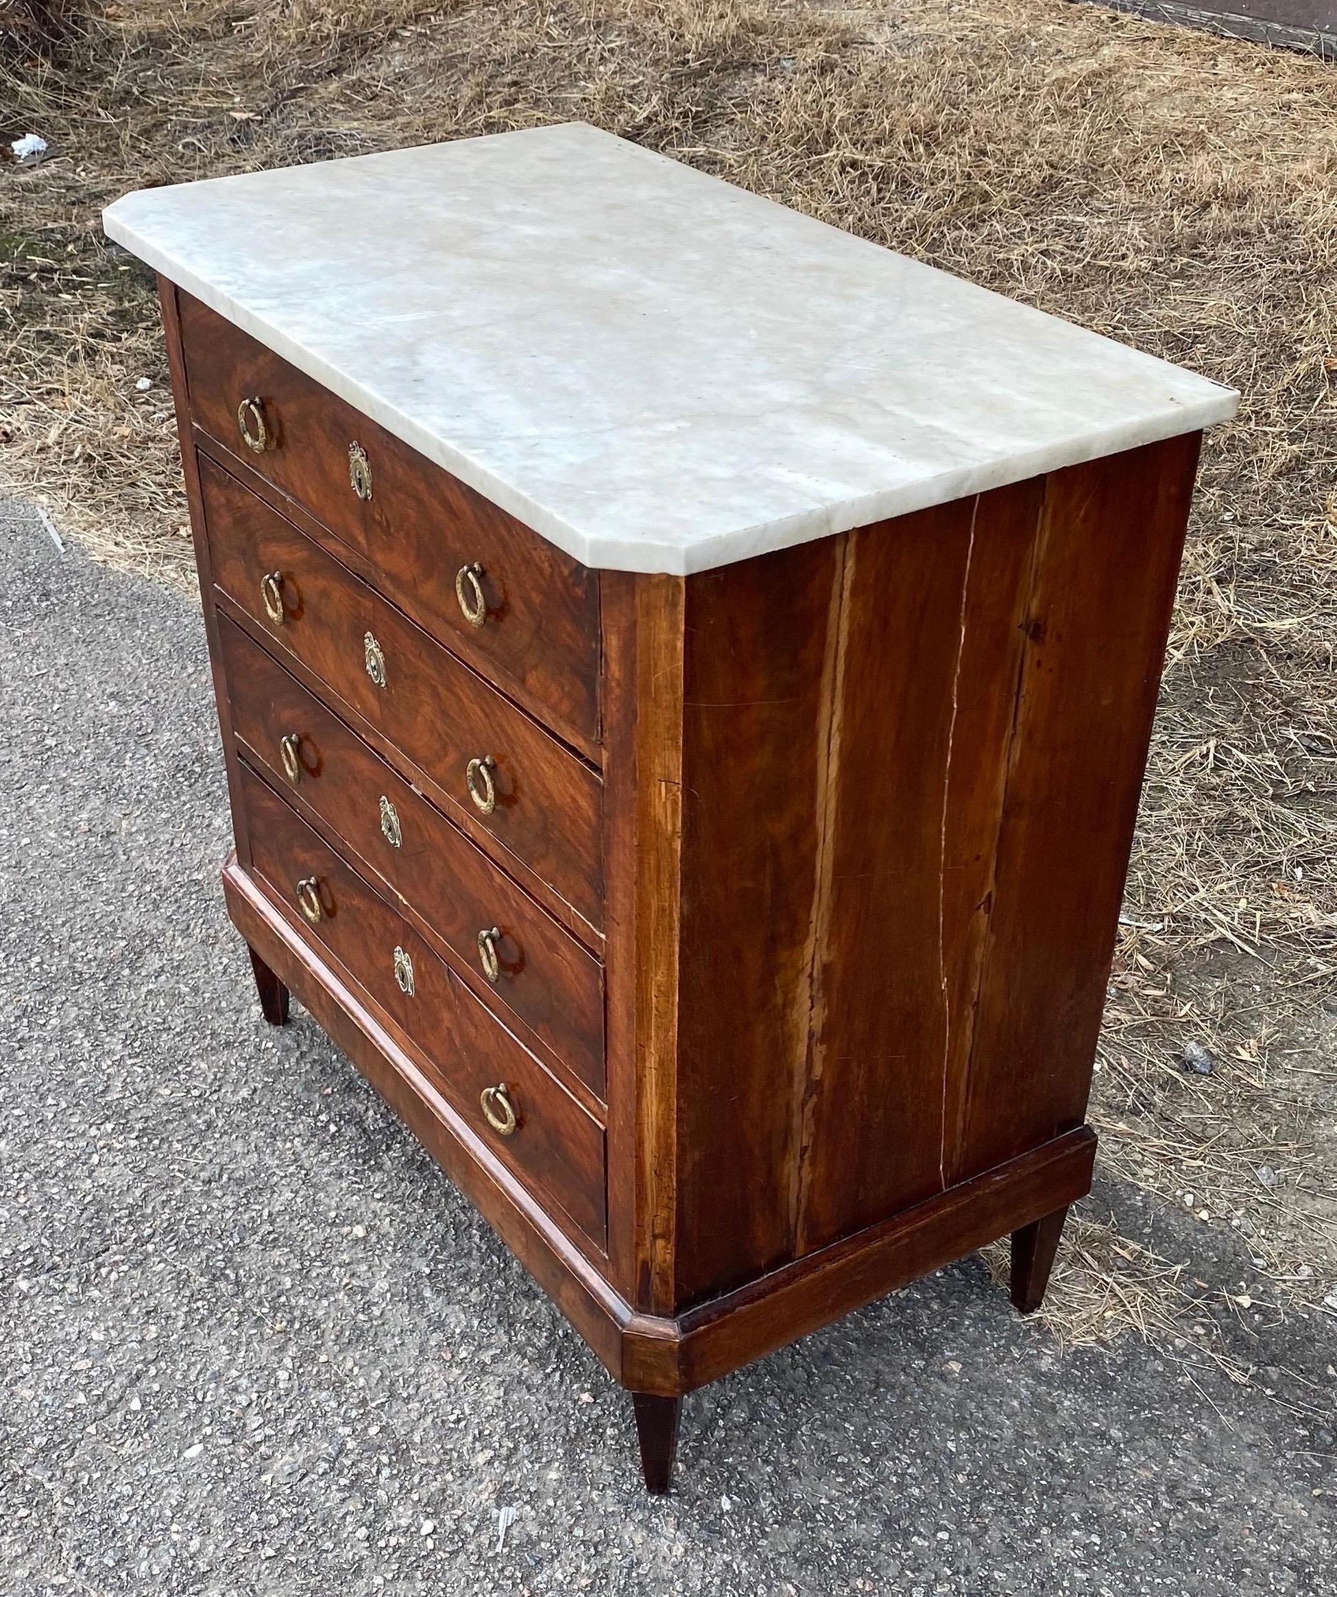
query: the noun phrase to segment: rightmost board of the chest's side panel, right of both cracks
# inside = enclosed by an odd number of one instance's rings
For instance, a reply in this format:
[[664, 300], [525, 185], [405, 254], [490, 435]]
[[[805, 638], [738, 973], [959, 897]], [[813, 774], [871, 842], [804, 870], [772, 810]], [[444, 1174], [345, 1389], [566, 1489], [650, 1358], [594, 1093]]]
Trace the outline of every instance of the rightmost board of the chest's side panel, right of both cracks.
[[962, 1177], [1085, 1110], [1198, 442], [1187, 434], [1048, 478]]

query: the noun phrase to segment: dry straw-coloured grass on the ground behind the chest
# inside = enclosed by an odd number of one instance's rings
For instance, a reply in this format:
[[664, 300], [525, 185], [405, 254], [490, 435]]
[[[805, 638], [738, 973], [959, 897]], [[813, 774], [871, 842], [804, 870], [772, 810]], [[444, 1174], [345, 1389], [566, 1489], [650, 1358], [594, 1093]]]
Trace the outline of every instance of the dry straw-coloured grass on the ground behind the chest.
[[[53, 142], [0, 172], [8, 473], [102, 556], [166, 575], [187, 569], [185, 508], [155, 307], [97, 232], [102, 203], [152, 182], [586, 118], [1241, 388], [1205, 455], [1094, 1116], [1107, 1167], [1246, 1238], [1249, 1290], [1321, 1302], [1329, 67], [1045, 0], [128, 0], [83, 16], [56, 65], [14, 53], [0, 89], [5, 137]], [[1214, 1075], [1182, 1072], [1190, 1038]], [[1182, 1321], [1179, 1274], [1122, 1247], [1074, 1231], [1051, 1311], [1069, 1338]]]

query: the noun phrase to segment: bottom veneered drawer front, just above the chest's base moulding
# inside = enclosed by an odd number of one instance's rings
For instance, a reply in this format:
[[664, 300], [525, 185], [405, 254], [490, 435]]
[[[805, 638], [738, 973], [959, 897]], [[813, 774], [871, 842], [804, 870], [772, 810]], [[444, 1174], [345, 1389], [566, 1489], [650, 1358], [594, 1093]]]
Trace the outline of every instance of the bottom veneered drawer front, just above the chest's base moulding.
[[[479, 1137], [603, 1247], [605, 1145], [598, 1121], [246, 763], [241, 794], [254, 875], [423, 1049], [434, 1086]], [[317, 910], [314, 920], [303, 902]], [[496, 1096], [503, 1083], [504, 1100]], [[485, 1091], [503, 1124], [503, 1104], [514, 1110], [509, 1135], [488, 1123]]]

